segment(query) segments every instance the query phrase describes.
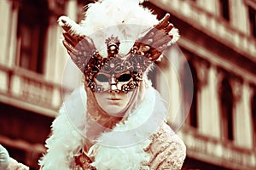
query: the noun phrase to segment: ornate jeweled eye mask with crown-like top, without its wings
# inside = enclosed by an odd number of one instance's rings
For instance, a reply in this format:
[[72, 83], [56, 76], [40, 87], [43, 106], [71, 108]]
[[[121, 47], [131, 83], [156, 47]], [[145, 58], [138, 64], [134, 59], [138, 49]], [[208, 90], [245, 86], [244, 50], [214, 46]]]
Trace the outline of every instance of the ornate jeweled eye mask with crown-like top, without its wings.
[[126, 94], [138, 87], [143, 80], [143, 72], [152, 61], [135, 54], [135, 50], [120, 56], [118, 37], [109, 37], [106, 43], [108, 58], [102, 58], [97, 52], [93, 54], [84, 69], [85, 80], [93, 92], [114, 91]]

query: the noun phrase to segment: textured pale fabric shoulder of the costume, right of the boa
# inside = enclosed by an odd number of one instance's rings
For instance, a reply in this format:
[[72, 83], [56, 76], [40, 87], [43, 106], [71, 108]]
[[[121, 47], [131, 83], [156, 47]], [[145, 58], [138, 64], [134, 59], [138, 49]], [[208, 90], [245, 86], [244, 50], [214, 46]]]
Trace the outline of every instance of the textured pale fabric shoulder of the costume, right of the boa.
[[186, 147], [183, 141], [166, 123], [160, 130], [151, 136], [152, 142], [148, 146], [151, 154], [150, 169], [181, 169], [186, 156]]

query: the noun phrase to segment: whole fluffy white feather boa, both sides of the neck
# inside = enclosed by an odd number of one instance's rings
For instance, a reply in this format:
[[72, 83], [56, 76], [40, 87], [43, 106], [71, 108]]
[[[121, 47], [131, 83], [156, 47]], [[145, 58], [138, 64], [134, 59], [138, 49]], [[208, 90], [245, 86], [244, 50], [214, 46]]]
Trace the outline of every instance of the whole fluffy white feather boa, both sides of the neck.
[[[60, 115], [52, 125], [52, 135], [46, 140], [47, 154], [39, 161], [44, 170], [76, 169], [73, 156], [83, 148], [86, 115], [84, 87], [77, 88], [63, 103]], [[141, 105], [125, 123], [118, 123], [111, 132], [102, 133], [90, 147], [89, 156], [96, 169], [148, 169], [142, 166], [149, 161], [144, 148], [150, 143], [150, 134], [156, 132], [166, 118], [166, 109], [160, 94], [148, 88]]]

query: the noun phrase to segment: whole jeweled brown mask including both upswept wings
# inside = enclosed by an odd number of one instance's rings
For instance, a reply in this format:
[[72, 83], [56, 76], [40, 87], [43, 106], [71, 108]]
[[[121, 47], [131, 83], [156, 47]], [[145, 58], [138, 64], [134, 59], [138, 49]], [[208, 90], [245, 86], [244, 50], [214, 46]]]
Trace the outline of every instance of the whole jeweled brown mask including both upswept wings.
[[170, 14], [143, 32], [134, 42], [130, 52], [119, 54], [119, 37], [106, 39], [108, 57], [102, 57], [94, 42], [87, 36], [73, 34], [73, 23], [67, 17], [60, 18], [66, 31], [63, 44], [73, 62], [84, 73], [86, 85], [92, 92], [128, 93], [143, 80], [143, 73], [160, 58], [163, 50], [177, 41], [177, 29], [168, 21]]

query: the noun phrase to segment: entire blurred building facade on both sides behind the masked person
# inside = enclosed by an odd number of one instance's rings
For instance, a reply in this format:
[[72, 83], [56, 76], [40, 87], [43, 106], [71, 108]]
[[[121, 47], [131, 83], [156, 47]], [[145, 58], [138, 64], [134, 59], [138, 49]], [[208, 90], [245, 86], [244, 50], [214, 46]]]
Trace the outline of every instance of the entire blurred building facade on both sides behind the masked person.
[[[91, 2], [0, 2], [0, 144], [34, 169], [62, 102], [68, 56], [56, 20], [62, 14], [81, 20], [83, 6]], [[150, 0], [143, 4], [160, 18], [171, 14], [181, 34], [177, 45], [193, 76], [193, 102], [178, 130], [187, 145], [184, 169], [255, 169], [256, 1]], [[177, 88], [184, 92], [180, 98], [185, 98], [186, 80], [179, 81]], [[175, 90], [171, 94], [177, 94]], [[172, 117], [175, 111], [170, 108]]]

